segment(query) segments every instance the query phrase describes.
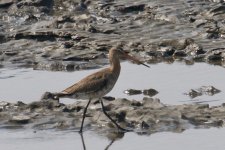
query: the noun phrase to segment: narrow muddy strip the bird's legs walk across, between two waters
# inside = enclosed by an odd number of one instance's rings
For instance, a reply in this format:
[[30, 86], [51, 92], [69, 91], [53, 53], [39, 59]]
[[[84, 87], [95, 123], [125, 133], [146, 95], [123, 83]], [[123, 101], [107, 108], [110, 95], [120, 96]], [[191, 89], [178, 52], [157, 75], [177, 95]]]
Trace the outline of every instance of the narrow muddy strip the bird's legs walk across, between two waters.
[[[79, 130], [83, 109], [87, 101], [65, 105], [51, 99], [29, 104], [0, 103], [0, 127], [3, 129], [59, 129]], [[209, 107], [208, 104], [166, 105], [159, 99], [144, 98], [142, 101], [113, 99], [104, 100], [108, 113], [121, 126], [137, 133], [182, 132], [190, 128], [222, 127], [225, 105]], [[98, 100], [88, 109], [84, 130], [117, 131], [103, 114]]]

